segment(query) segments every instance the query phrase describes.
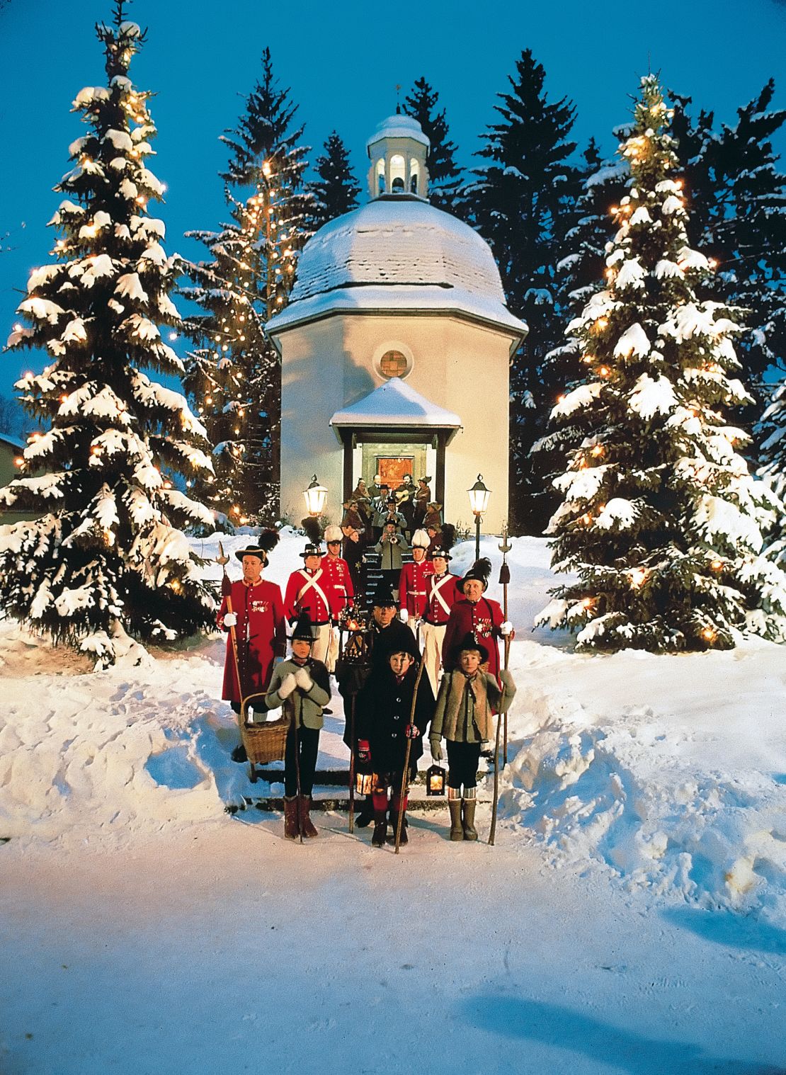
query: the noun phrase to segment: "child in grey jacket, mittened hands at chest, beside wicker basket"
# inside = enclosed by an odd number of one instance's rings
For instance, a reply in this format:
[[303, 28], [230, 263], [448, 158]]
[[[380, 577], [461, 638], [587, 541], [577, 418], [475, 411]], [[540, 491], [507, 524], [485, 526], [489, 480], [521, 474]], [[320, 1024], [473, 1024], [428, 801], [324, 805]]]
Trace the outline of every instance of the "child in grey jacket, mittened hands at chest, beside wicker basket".
[[284, 836], [318, 835], [310, 817], [311, 792], [319, 752], [323, 713], [330, 701], [330, 677], [312, 655], [314, 628], [301, 613], [292, 631], [292, 655], [273, 670], [265, 698], [269, 710], [282, 707], [289, 718], [284, 754]]

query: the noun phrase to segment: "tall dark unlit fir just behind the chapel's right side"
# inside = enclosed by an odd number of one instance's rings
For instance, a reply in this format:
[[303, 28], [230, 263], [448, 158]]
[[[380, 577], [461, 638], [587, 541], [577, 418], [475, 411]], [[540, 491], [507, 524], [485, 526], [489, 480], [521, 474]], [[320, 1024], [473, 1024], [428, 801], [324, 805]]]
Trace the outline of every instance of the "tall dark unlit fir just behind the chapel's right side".
[[463, 188], [467, 218], [491, 246], [508, 305], [529, 325], [511, 368], [511, 517], [516, 530], [540, 533], [547, 520], [533, 502], [529, 452], [542, 434], [542, 415], [553, 402], [543, 383], [546, 354], [562, 339], [563, 312], [555, 301], [556, 266], [563, 257], [566, 210], [580, 192], [578, 169], [569, 162], [575, 109], [567, 99], [552, 103], [546, 73], [525, 49], [516, 61], [510, 92], [495, 105], [500, 123], [483, 134], [475, 169]]

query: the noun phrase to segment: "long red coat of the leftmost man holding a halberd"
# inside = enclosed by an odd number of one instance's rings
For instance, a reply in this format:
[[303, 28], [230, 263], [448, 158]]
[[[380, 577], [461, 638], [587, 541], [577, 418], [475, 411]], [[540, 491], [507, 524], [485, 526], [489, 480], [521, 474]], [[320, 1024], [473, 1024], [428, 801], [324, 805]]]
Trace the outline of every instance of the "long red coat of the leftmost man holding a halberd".
[[[255, 586], [246, 586], [242, 579], [232, 583], [232, 612], [238, 617], [234, 635], [238, 640], [238, 664], [243, 684], [243, 697], [267, 690], [273, 671], [273, 658], [286, 653], [286, 628], [284, 624], [284, 602], [275, 583], [260, 578]], [[218, 610], [218, 629], [229, 631], [224, 626], [227, 599]], [[234, 670], [231, 634], [227, 637], [227, 657], [224, 663], [224, 690], [221, 698], [240, 702], [241, 691]]]

